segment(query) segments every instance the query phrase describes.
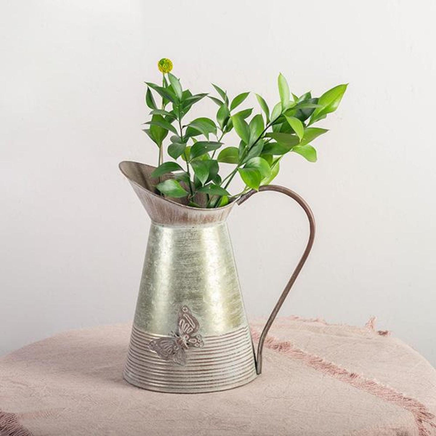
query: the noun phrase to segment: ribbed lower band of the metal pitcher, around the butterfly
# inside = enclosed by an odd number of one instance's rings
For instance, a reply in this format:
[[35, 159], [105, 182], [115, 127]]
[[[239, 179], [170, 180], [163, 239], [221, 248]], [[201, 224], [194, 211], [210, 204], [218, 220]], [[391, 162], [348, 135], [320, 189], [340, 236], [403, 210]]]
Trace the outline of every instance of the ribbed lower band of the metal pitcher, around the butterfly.
[[204, 347], [190, 347], [183, 366], [148, 349], [150, 341], [160, 337], [133, 326], [124, 369], [126, 381], [152, 391], [196, 393], [236, 388], [256, 378], [248, 326], [203, 337]]

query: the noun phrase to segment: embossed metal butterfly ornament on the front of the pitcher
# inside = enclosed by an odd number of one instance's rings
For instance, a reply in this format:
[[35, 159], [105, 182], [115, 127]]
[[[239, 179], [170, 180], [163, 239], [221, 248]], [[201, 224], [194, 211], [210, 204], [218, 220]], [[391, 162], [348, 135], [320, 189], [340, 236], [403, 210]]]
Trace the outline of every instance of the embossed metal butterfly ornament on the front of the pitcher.
[[179, 365], [186, 364], [186, 350], [189, 347], [203, 347], [200, 334], [196, 334], [200, 324], [187, 306], [182, 306], [177, 317], [177, 330], [171, 336], [153, 339], [148, 349], [154, 351], [160, 358], [173, 361]]

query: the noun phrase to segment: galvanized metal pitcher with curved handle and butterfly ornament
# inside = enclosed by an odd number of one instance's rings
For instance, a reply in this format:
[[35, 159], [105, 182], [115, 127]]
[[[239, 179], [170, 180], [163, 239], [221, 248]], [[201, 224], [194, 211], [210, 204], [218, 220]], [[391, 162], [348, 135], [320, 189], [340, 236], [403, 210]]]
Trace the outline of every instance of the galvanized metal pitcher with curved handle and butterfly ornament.
[[154, 167], [136, 162], [119, 167], [151, 219], [124, 378], [140, 388], [179, 393], [221, 391], [252, 381], [262, 371], [269, 327], [312, 247], [310, 208], [286, 188], [260, 189], [295, 199], [309, 218], [310, 237], [266, 323], [256, 356], [226, 225], [235, 203], [192, 208], [157, 193], [158, 181], [150, 177]]

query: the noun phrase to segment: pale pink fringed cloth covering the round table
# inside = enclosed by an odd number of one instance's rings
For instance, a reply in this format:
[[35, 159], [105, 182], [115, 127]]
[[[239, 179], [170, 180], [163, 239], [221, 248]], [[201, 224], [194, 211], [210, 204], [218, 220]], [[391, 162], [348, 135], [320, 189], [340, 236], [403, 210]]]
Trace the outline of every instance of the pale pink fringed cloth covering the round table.
[[373, 322], [280, 318], [261, 376], [196, 395], [126, 383], [129, 334], [74, 330], [1, 358], [0, 435], [436, 435], [436, 371]]

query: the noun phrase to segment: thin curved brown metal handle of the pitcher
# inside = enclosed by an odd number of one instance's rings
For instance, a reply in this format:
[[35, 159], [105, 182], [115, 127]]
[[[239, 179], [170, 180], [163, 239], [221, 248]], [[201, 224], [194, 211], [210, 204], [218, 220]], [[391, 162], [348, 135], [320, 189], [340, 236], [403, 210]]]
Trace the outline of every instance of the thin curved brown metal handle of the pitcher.
[[262, 372], [262, 349], [263, 349], [263, 343], [265, 342], [266, 335], [268, 334], [268, 331], [276, 319], [277, 313], [279, 313], [280, 308], [282, 307], [284, 301], [286, 300], [286, 297], [289, 294], [289, 291], [291, 290], [293, 284], [295, 283], [296, 278], [300, 274], [301, 269], [303, 268], [303, 265], [305, 264], [307, 258], [309, 257], [310, 250], [312, 249], [313, 240], [315, 238], [315, 218], [313, 217], [313, 213], [310, 210], [309, 205], [306, 203], [306, 201], [303, 200], [303, 198], [300, 197], [300, 195], [296, 194], [294, 191], [291, 191], [288, 188], [285, 188], [283, 186], [278, 185], [266, 185], [259, 187], [259, 191], [249, 191], [247, 194], [243, 195], [239, 200], [237, 201], [238, 204], [244, 203], [244, 201], [247, 201], [252, 195], [256, 194], [257, 192], [262, 191], [276, 191], [281, 192], [282, 194], [287, 195], [290, 198], [293, 198], [300, 206], [303, 208], [303, 210], [306, 212], [307, 218], [309, 219], [309, 225], [310, 225], [310, 234], [309, 234], [309, 240], [306, 245], [306, 249], [303, 252], [303, 255], [301, 256], [300, 262], [298, 262], [296, 268], [294, 269], [294, 272], [292, 273], [291, 278], [289, 279], [288, 283], [285, 286], [285, 289], [283, 290], [282, 294], [280, 295], [279, 300], [277, 301], [276, 305], [274, 306], [274, 309], [271, 312], [271, 315], [269, 315], [268, 320], [266, 321], [265, 327], [263, 327], [262, 334], [259, 338], [259, 344], [257, 346], [257, 356], [255, 357], [256, 362], [256, 372], [257, 374], [260, 374]]

